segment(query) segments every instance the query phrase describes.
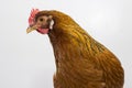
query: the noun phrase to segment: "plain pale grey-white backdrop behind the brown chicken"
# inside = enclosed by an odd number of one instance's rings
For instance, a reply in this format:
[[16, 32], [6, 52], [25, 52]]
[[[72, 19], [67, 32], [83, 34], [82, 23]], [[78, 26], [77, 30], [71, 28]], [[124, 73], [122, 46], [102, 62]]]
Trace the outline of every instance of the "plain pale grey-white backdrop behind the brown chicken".
[[47, 35], [26, 34], [32, 8], [70, 15], [112, 51], [132, 88], [132, 0], [0, 1], [0, 88], [53, 88], [55, 62]]

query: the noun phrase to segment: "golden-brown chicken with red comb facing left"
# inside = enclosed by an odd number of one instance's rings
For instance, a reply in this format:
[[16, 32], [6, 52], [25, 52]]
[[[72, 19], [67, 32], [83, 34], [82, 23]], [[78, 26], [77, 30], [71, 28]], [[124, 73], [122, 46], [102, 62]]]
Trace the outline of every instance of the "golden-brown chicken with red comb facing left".
[[53, 45], [54, 88], [123, 88], [120, 61], [67, 14], [33, 9], [28, 33], [47, 34]]

